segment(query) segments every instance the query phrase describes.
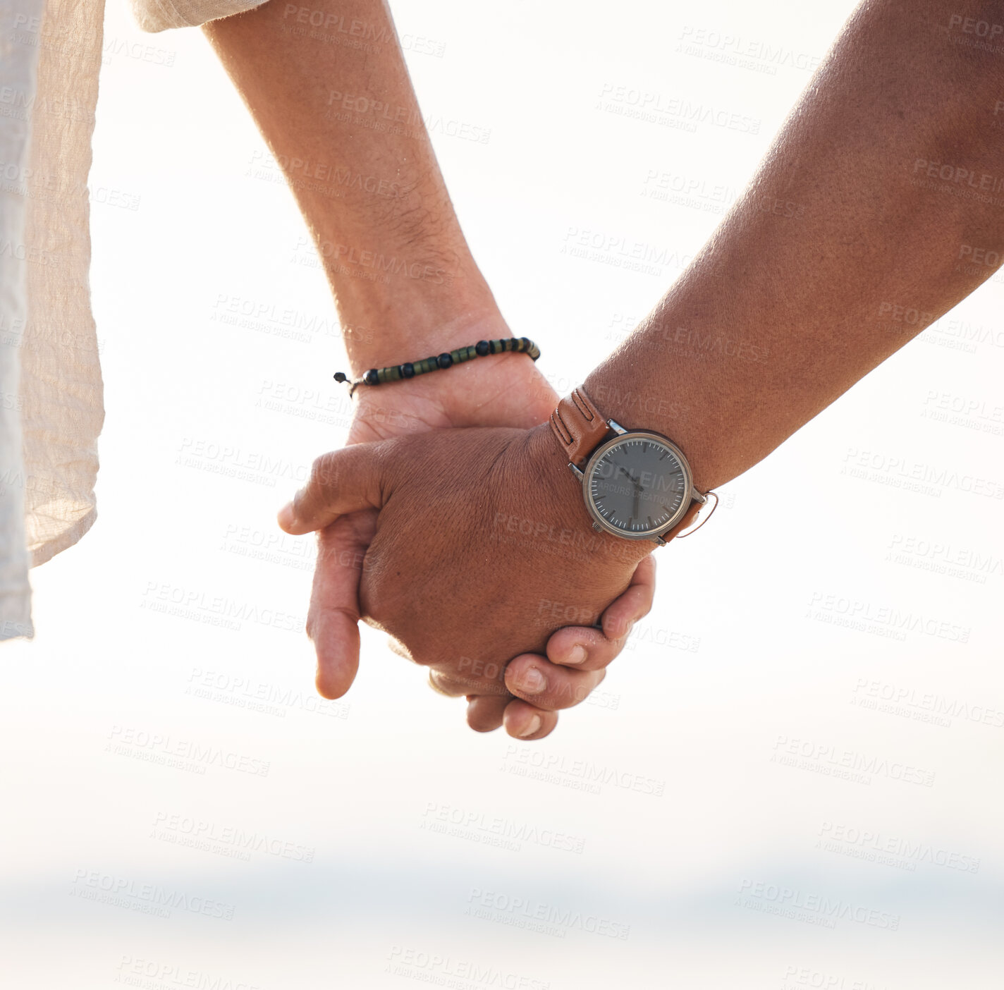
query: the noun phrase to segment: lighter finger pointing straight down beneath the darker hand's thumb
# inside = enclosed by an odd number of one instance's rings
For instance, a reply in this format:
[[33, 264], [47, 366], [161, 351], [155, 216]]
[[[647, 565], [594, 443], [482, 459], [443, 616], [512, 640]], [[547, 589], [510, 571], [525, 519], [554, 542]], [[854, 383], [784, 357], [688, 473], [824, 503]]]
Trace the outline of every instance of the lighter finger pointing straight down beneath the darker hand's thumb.
[[359, 667], [359, 578], [376, 529], [373, 510], [342, 516], [317, 536], [307, 636], [317, 654], [317, 692], [340, 698]]

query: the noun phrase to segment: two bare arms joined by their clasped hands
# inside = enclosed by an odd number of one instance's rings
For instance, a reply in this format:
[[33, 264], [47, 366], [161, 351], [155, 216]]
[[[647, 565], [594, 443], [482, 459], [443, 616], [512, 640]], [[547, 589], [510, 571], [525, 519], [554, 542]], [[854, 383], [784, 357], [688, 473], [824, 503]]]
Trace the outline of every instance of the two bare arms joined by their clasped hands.
[[[335, 13], [333, 0], [321, 8]], [[396, 36], [383, 2], [337, 8]], [[400, 47], [303, 58], [283, 16], [265, 3], [206, 33], [286, 172], [341, 325], [375, 328], [346, 329], [353, 373], [507, 336]], [[606, 502], [610, 477], [580, 490], [566, 464], [583, 458], [561, 446], [595, 451], [594, 471], [620, 441], [590, 415], [555, 444], [540, 424], [557, 397], [523, 354], [362, 390], [349, 446], [319, 458], [280, 513], [288, 532], [319, 533], [308, 627], [323, 695], [351, 684], [361, 617], [440, 690], [466, 695], [473, 728], [546, 735], [651, 604], [641, 530], [670, 534], [680, 499], [703, 501], [757, 464], [993, 274], [962, 264], [960, 244], [1004, 256], [999, 206], [969, 188], [1004, 174], [988, 115], [1004, 76], [987, 52], [947, 44], [944, 21], [937, 0], [860, 5], [706, 247], [587, 379], [606, 417], [636, 428], [608, 461], [618, 487]], [[332, 112], [348, 93], [359, 98]], [[378, 130], [360, 101], [409, 125]], [[965, 167], [939, 172], [944, 149]], [[926, 320], [891, 326], [894, 304]], [[693, 477], [674, 480], [667, 464], [684, 451]], [[555, 601], [583, 625], [555, 629], [543, 607]]]

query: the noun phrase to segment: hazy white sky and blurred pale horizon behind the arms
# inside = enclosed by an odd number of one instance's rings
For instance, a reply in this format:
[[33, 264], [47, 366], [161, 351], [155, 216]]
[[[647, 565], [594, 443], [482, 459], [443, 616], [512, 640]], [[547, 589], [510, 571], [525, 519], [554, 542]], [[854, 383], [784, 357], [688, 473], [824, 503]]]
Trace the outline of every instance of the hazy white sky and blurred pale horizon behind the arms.
[[[852, 4], [393, 8], [475, 255], [565, 392]], [[552, 737], [475, 735], [368, 630], [319, 705], [312, 545], [274, 513], [344, 435], [328, 291], [200, 32], [112, 0], [105, 46], [99, 517], [3, 646], [4, 985], [999, 986], [1002, 503], [953, 479], [1004, 485], [1004, 278], [723, 489]], [[651, 271], [618, 266], [638, 244]]]

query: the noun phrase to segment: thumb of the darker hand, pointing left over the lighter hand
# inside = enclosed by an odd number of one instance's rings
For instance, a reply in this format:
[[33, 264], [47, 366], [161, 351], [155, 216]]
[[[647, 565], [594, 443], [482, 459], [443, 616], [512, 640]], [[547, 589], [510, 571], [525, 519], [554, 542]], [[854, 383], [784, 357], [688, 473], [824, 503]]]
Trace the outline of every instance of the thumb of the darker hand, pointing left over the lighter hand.
[[322, 454], [307, 483], [279, 510], [279, 526], [293, 536], [330, 525], [346, 512], [384, 504], [386, 443], [353, 444]]

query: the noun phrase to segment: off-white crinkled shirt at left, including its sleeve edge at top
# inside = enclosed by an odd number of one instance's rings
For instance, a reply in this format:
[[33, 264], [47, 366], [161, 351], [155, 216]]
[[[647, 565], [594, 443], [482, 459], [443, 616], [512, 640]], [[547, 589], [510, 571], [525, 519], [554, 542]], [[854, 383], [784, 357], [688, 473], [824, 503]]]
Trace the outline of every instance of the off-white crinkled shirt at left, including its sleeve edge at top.
[[[265, 0], [130, 0], [145, 31]], [[28, 567], [96, 515], [104, 420], [87, 174], [102, 0], [0, 0], [0, 640], [31, 637]]]

